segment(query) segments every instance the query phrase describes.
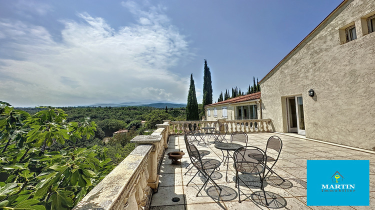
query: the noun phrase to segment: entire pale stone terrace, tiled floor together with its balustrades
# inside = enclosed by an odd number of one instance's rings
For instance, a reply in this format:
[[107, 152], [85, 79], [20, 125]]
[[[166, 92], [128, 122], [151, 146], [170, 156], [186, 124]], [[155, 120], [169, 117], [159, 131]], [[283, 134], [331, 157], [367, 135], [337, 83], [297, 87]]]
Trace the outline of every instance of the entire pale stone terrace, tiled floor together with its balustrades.
[[[185, 168], [190, 159], [183, 138], [182, 123], [186, 121], [165, 120], [158, 124], [151, 135], [138, 135], [132, 139], [135, 149], [97, 186], [94, 187], [74, 209], [323, 209], [324, 206], [306, 205], [306, 160], [307, 159], [369, 159], [370, 160], [370, 206], [346, 206], [348, 209], [375, 207], [375, 155], [373, 152], [295, 137], [271, 130], [270, 120], [229, 120], [226, 139], [230, 133], [241, 130], [247, 133], [247, 145], [265, 149], [267, 139], [277, 135], [282, 139], [280, 157], [272, 168], [278, 176], [268, 173], [263, 182], [269, 205], [265, 204], [263, 191], [257, 175], [239, 174], [247, 184], [240, 184], [240, 199], [235, 187], [233, 159], [229, 159], [227, 180], [226, 166], [222, 162], [214, 171], [212, 179], [222, 190], [208, 182], [195, 196], [205, 181], [198, 173]], [[199, 127], [212, 126], [213, 121], [190, 121]], [[204, 141], [204, 142], [203, 142]], [[210, 153], [204, 158], [223, 159], [221, 150], [215, 148], [214, 138], [202, 136], [194, 145]], [[171, 164], [167, 153], [183, 150], [181, 164]], [[231, 152], [232, 153], [232, 152]], [[186, 173], [186, 174], [185, 174]], [[372, 178], [371, 178], [372, 177]], [[336, 206], [338, 207], [338, 206]], [[334, 206], [332, 206], [334, 208]]]

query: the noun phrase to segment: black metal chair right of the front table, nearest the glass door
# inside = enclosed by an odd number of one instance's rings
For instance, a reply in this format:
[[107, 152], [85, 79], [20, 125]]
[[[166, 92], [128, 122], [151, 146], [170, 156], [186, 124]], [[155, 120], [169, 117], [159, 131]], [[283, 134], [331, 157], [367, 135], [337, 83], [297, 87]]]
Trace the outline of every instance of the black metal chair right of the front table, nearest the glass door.
[[[267, 145], [265, 146], [265, 155], [267, 157], [267, 162], [273, 162], [273, 163], [270, 167], [266, 165], [268, 171], [265, 175], [271, 172], [271, 173], [276, 174], [283, 181], [285, 181], [285, 179], [283, 179], [281, 176], [279, 176], [277, 173], [275, 173], [272, 170], [272, 167], [276, 164], [278, 157], [280, 156], [281, 148], [282, 148], [282, 141], [280, 137], [276, 135], [272, 135], [271, 137], [268, 138]], [[272, 152], [269, 152], [270, 149], [271, 150], [273, 149], [275, 152], [277, 152], [277, 155]]]

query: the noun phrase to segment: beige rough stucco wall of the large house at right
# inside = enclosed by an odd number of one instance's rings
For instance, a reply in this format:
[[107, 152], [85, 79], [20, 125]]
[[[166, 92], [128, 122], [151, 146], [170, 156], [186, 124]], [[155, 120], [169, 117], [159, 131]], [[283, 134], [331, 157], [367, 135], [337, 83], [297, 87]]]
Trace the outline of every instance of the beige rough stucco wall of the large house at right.
[[[375, 0], [346, 2], [262, 79], [263, 118], [276, 131], [287, 132], [284, 96], [302, 95], [306, 137], [375, 147], [375, 32], [363, 35], [360, 20], [373, 11]], [[340, 44], [339, 28], [350, 22], [357, 39]]]

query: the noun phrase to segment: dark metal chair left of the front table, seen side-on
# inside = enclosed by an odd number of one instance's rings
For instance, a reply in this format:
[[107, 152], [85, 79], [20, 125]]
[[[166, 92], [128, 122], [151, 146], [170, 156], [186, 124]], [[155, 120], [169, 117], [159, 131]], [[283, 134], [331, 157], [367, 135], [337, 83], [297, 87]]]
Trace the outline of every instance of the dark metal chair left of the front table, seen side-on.
[[[219, 190], [221, 191], [221, 187], [217, 185], [217, 183], [211, 178], [213, 172], [220, 166], [221, 162], [217, 159], [202, 159], [199, 150], [195, 147], [194, 144], [187, 141], [186, 143], [187, 153], [189, 154], [190, 160], [193, 166], [198, 169], [198, 171], [194, 174], [194, 176], [187, 182], [186, 186], [190, 183], [190, 181], [198, 174], [199, 172], [205, 177], [205, 181], [203, 185], [200, 187], [198, 193], [195, 196], [198, 196], [200, 190], [207, 184], [210, 180], [214, 185], [216, 185]], [[209, 172], [208, 170], [212, 170]]]

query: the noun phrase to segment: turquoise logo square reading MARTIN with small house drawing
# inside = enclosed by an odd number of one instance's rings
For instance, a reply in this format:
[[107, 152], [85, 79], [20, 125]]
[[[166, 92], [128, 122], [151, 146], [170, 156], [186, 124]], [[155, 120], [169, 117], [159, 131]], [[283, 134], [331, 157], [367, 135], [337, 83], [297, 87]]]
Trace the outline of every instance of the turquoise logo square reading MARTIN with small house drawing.
[[369, 160], [307, 160], [307, 205], [369, 205]]

